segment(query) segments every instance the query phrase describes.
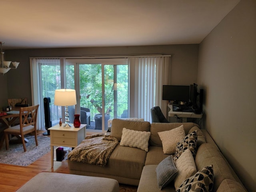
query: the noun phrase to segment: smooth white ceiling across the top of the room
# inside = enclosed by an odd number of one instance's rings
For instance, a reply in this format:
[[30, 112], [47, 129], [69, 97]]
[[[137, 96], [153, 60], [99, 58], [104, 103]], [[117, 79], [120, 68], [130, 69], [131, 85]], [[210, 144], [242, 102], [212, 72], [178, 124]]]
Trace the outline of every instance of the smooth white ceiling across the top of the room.
[[240, 0], [2, 0], [3, 49], [198, 44]]

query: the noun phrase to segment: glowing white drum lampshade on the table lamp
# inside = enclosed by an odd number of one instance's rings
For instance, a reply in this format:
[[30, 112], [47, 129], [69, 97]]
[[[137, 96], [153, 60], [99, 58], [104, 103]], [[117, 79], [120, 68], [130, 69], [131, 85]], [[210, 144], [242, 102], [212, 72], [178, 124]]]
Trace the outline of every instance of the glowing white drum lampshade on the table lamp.
[[55, 90], [54, 105], [57, 105], [57, 106], [76, 105], [76, 90], [74, 89]]

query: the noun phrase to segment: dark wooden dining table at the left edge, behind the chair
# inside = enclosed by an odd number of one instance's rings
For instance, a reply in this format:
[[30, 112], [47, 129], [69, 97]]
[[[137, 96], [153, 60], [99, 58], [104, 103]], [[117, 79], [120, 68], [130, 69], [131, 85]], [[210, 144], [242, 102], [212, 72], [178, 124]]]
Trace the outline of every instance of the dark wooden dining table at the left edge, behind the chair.
[[[0, 123], [1, 123], [1, 132], [0, 132], [0, 149], [4, 144], [4, 130], [12, 126], [14, 122], [20, 117], [20, 107], [14, 107], [10, 111], [0, 111]], [[20, 139], [20, 138], [19, 138]], [[25, 142], [28, 140], [25, 139]]]

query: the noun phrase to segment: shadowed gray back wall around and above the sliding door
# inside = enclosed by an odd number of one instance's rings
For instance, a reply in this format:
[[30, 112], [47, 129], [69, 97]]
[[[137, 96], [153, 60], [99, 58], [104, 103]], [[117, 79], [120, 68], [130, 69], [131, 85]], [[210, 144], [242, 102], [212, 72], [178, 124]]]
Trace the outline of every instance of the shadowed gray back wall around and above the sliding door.
[[5, 50], [5, 60], [20, 62], [17, 70], [0, 75], [0, 107], [7, 106], [8, 98], [31, 99], [30, 57], [81, 57], [139, 54], [172, 55], [172, 84], [189, 85], [196, 82], [198, 64], [198, 44], [160, 45], [160, 46], [124, 46], [124, 47], [88, 47], [56, 49]]

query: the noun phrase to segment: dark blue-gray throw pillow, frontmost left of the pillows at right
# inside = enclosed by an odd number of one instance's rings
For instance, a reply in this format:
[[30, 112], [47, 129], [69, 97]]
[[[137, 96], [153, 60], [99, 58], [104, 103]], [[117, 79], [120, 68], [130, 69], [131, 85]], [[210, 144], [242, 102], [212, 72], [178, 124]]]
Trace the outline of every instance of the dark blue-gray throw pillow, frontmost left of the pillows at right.
[[174, 180], [177, 171], [171, 155], [162, 160], [156, 167], [158, 188], [162, 190], [162, 188], [166, 187], [172, 180]]

